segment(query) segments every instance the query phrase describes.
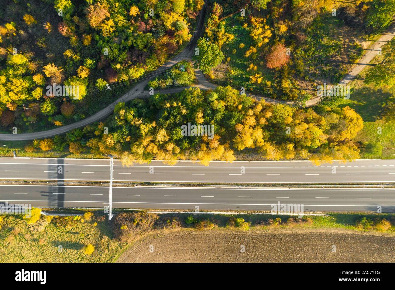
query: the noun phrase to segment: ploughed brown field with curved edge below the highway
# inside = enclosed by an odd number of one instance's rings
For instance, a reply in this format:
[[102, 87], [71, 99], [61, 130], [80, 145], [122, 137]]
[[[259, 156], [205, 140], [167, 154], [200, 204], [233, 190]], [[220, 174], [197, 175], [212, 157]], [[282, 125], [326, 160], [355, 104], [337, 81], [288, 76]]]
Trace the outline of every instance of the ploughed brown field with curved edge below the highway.
[[395, 262], [394, 247], [395, 237], [341, 229], [181, 230], [141, 239], [117, 262]]

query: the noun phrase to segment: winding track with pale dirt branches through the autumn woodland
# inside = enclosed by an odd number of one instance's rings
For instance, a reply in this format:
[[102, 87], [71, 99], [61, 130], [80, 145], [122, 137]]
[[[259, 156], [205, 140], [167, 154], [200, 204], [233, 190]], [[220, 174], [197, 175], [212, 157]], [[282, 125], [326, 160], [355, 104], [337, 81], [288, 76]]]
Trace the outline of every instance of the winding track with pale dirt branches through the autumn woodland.
[[[109, 106], [105, 107], [103, 110], [97, 112], [96, 114], [85, 118], [79, 122], [75, 122], [69, 125], [61, 126], [55, 129], [47, 130], [47, 131], [41, 131], [41, 132], [35, 132], [35, 133], [23, 133], [23, 134], [0, 134], [0, 140], [5, 140], [5, 141], [14, 141], [14, 140], [33, 140], [33, 139], [40, 139], [40, 138], [47, 138], [47, 137], [53, 137], [55, 135], [61, 135], [64, 134], [72, 129], [76, 129], [79, 127], [86, 126], [90, 123], [102, 120], [103, 118], [109, 116], [111, 113], [114, 111], [115, 105], [119, 102], [127, 102], [130, 101], [131, 99], [134, 98], [142, 98], [142, 97], [148, 97], [149, 92], [144, 91], [144, 87], [147, 85], [150, 79], [156, 77], [156, 75], [159, 75], [161, 71], [163, 71], [166, 68], [169, 68], [177, 62], [183, 60], [183, 59], [190, 59], [192, 56], [192, 52], [194, 52], [194, 48], [196, 47], [196, 41], [198, 40], [199, 36], [201, 35], [201, 32], [203, 30], [203, 24], [204, 24], [204, 13], [205, 13], [205, 7], [206, 4], [203, 6], [200, 16], [199, 16], [199, 21], [198, 21], [198, 29], [196, 30], [194, 37], [192, 37], [191, 42], [188, 44], [188, 46], [180, 52], [177, 56], [175, 56], [172, 60], [167, 62], [166, 64], [162, 65], [156, 70], [156, 73], [153, 73], [150, 78], [145, 79], [141, 82], [139, 82], [132, 90], [130, 90], [128, 93], [122, 95], [119, 99], [111, 103]], [[351, 80], [353, 80], [358, 73], [362, 71], [362, 69], [371, 62], [371, 60], [374, 58], [374, 56], [377, 55], [378, 49], [390, 41], [393, 37], [395, 36], [395, 22], [391, 24], [391, 26], [388, 28], [386, 32], [384, 32], [380, 38], [375, 41], [369, 50], [363, 55], [363, 57], [355, 64], [350, 72], [344, 77], [344, 79], [340, 82], [340, 84], [347, 84]], [[198, 84], [194, 85], [194, 87], [200, 88], [202, 90], [214, 90], [217, 85], [209, 82], [207, 79], [205, 79], [203, 73], [199, 69], [196, 70], [196, 77], [198, 79]], [[181, 92], [187, 87], [183, 88], [171, 88], [167, 90], [157, 90], [155, 93], [161, 93], [161, 94], [174, 94]], [[260, 95], [253, 95], [253, 94], [247, 94], [250, 97], [254, 97], [256, 99], [265, 99], [265, 101], [269, 103], [284, 103], [288, 105], [293, 105], [292, 101], [281, 101], [281, 100], [275, 100], [271, 99], [268, 97], [263, 97]], [[310, 107], [313, 105], [316, 105], [320, 101], [319, 97], [316, 97], [314, 99], [310, 99], [309, 101], [306, 102], [306, 106]]]

